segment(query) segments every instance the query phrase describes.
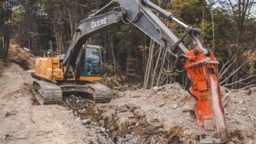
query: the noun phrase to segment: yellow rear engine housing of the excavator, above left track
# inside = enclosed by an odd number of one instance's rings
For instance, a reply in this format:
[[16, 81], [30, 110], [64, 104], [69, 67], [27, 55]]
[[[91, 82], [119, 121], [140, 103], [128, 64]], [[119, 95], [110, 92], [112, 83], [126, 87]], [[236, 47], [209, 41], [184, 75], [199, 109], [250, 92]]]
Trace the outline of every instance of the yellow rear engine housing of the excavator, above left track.
[[[53, 73], [52, 73], [52, 67], [53, 67]], [[35, 75], [37, 77], [41, 77], [49, 81], [63, 80], [63, 71], [60, 67], [60, 59], [53, 58], [53, 65], [52, 65], [52, 58], [37, 58], [35, 60]]]

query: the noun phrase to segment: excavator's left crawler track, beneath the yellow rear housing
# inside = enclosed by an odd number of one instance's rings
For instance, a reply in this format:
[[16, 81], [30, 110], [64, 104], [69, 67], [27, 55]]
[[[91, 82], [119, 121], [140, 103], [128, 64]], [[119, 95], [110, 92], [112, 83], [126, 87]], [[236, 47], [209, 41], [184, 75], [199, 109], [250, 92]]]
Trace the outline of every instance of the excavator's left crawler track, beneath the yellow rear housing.
[[33, 94], [41, 105], [62, 105], [62, 90], [52, 82], [34, 81]]

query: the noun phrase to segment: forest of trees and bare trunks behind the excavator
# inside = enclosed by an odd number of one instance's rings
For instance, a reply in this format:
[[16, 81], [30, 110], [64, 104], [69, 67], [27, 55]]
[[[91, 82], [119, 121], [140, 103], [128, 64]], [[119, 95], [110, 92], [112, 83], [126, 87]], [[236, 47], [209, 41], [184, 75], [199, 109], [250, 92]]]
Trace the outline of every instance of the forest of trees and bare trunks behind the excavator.
[[[1, 63], [8, 61], [10, 39], [43, 56], [53, 42], [65, 54], [79, 22], [110, 0], [3, 0], [0, 3]], [[216, 56], [221, 86], [242, 90], [256, 86], [256, 9], [254, 0], [152, 0], [191, 27], [199, 28], [203, 45]], [[118, 7], [118, 6], [117, 6]], [[156, 12], [157, 14], [157, 12]], [[182, 28], [158, 15], [177, 35]], [[88, 39], [104, 48], [108, 77], [125, 77], [145, 89], [172, 82], [184, 87], [187, 74], [165, 73], [175, 58], [136, 27], [118, 24]]]

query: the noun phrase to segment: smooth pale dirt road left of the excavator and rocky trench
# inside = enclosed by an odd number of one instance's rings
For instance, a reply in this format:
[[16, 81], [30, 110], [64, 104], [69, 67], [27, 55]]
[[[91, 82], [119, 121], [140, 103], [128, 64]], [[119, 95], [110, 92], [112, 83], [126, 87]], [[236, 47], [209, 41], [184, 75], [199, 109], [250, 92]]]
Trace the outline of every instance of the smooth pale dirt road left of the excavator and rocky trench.
[[30, 73], [10, 63], [0, 79], [0, 143], [89, 143], [68, 109], [33, 105]]

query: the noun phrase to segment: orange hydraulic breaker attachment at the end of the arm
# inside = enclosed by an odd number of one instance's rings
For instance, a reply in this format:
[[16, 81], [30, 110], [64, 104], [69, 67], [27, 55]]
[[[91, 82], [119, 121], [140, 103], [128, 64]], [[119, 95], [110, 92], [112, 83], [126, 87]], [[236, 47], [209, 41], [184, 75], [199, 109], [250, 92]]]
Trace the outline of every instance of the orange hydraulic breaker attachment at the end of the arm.
[[200, 142], [225, 143], [229, 138], [221, 105], [219, 62], [211, 52], [205, 56], [200, 48], [194, 48], [185, 55], [184, 65], [191, 82], [192, 95], [197, 100], [194, 110], [202, 132]]

